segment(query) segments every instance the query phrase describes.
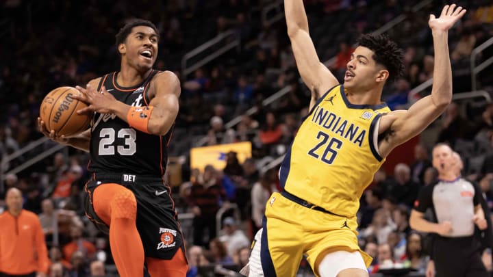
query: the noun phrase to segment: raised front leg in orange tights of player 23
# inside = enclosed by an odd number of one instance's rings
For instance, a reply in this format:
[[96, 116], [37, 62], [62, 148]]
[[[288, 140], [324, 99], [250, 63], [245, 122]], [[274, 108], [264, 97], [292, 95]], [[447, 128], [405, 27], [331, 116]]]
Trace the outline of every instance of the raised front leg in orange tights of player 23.
[[143, 276], [144, 247], [136, 227], [134, 193], [116, 183], [102, 184], [94, 189], [92, 205], [101, 220], [110, 226], [111, 252], [120, 276]]

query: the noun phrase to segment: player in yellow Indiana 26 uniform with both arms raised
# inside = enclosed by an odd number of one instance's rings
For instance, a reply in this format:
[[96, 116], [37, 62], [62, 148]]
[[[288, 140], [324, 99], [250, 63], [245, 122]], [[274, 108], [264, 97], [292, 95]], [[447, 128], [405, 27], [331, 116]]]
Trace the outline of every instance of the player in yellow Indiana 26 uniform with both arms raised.
[[312, 91], [279, 172], [283, 192], [266, 203], [261, 239], [265, 276], [295, 276], [307, 254], [317, 276], [368, 276], [371, 258], [357, 245], [359, 197], [392, 149], [438, 118], [452, 98], [448, 29], [466, 10], [446, 5], [431, 15], [433, 90], [409, 110], [381, 103], [386, 81], [401, 75], [402, 51], [385, 36], [362, 36], [344, 84], [322, 64], [309, 37], [303, 0], [284, 0], [296, 65]]

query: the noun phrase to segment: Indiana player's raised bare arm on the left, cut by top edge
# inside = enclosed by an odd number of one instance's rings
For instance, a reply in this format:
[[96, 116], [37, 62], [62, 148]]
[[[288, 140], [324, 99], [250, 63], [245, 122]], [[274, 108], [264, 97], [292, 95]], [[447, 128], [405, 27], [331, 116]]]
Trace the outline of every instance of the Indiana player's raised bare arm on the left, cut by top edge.
[[309, 109], [327, 90], [338, 85], [338, 80], [318, 59], [314, 43], [309, 36], [308, 20], [303, 0], [284, 0], [288, 36], [301, 79], [312, 92]]

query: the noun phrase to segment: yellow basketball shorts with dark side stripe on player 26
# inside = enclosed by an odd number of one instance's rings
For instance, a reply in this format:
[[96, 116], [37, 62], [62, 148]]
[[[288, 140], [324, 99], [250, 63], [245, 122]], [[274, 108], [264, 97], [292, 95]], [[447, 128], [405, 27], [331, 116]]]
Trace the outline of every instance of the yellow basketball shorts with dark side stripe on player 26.
[[279, 193], [266, 203], [260, 256], [264, 276], [296, 276], [303, 254], [318, 275], [318, 263], [334, 251], [361, 252], [368, 267], [372, 258], [359, 249], [356, 217], [342, 217], [299, 205]]

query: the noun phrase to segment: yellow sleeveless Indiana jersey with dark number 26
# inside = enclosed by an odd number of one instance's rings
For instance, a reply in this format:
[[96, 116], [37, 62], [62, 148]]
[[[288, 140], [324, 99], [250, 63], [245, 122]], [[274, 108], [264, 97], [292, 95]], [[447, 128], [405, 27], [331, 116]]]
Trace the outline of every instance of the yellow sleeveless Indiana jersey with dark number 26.
[[385, 161], [378, 125], [390, 109], [349, 103], [342, 85], [331, 88], [301, 123], [279, 170], [281, 187], [336, 215], [353, 217], [359, 198]]

